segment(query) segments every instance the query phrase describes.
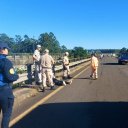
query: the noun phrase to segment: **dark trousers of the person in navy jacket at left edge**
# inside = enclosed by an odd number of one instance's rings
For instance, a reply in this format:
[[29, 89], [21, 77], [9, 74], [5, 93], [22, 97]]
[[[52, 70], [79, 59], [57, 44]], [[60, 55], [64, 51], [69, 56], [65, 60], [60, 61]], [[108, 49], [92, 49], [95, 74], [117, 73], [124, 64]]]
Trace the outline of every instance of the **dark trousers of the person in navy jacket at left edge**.
[[8, 128], [12, 107], [14, 103], [14, 96], [12, 87], [9, 84], [0, 87], [0, 112], [2, 110], [3, 118], [1, 128]]

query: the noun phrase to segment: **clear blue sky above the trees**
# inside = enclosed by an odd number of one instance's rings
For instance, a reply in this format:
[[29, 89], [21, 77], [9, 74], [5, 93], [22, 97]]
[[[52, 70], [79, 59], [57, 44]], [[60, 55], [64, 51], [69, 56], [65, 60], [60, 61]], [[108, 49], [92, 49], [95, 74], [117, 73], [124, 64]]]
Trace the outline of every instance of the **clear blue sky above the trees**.
[[128, 0], [0, 0], [0, 33], [45, 32], [68, 49], [128, 48]]

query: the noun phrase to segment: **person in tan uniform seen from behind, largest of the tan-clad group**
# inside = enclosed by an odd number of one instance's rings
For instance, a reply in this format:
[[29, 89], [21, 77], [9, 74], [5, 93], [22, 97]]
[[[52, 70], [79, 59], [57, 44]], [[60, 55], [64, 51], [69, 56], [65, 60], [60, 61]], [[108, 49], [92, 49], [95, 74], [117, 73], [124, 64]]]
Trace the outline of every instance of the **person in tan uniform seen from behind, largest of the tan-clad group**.
[[41, 57], [41, 67], [42, 67], [42, 78], [43, 78], [43, 91], [47, 86], [46, 81], [48, 80], [51, 89], [54, 89], [53, 83], [53, 71], [52, 66], [54, 64], [54, 59], [49, 55], [49, 50], [45, 49], [44, 55]]

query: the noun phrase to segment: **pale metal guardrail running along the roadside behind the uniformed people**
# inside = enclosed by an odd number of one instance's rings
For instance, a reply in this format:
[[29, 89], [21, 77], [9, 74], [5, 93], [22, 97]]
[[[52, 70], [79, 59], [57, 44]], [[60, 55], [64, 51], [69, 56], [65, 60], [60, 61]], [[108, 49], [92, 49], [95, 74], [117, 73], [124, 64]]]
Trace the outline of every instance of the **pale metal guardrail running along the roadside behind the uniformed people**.
[[[71, 62], [69, 64], [69, 66], [70, 67], [74, 67], [74, 66], [77, 66], [79, 64], [88, 62], [88, 61], [90, 61], [90, 58], [89, 59], [83, 59], [83, 60], [75, 61], [75, 62]], [[55, 66], [55, 71], [61, 71], [62, 69], [63, 69], [62, 65]], [[26, 81], [28, 79], [32, 79], [32, 78], [34, 78], [32, 72], [30, 72], [30, 73], [23, 73], [23, 74], [19, 75], [19, 79], [17, 81], [13, 82], [13, 84], [18, 84], [18, 83], [24, 82], [24, 81]]]

